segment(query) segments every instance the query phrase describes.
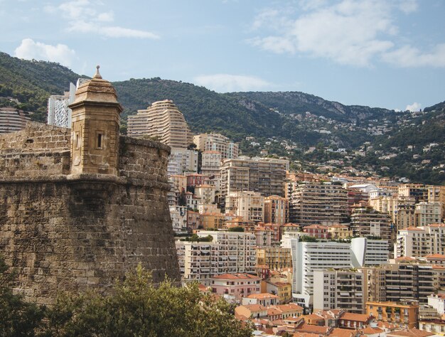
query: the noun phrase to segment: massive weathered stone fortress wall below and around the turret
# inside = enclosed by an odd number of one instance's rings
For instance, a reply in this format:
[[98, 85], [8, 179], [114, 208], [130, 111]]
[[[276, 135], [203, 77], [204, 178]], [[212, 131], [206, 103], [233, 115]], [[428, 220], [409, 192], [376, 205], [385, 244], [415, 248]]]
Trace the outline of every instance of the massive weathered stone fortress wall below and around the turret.
[[[100, 102], [99, 95], [95, 112]], [[95, 118], [88, 107], [82, 113]], [[52, 304], [58, 291], [107, 291], [139, 263], [154, 282], [180, 278], [166, 197], [170, 148], [119, 137], [102, 122], [90, 120], [87, 130], [101, 134], [100, 146], [82, 132], [29, 123], [0, 136], [0, 253], [18, 272], [17, 291], [38, 304]], [[103, 158], [90, 160], [82, 144]], [[87, 170], [73, 167], [76, 145]], [[109, 162], [114, 169], [104, 170]]]

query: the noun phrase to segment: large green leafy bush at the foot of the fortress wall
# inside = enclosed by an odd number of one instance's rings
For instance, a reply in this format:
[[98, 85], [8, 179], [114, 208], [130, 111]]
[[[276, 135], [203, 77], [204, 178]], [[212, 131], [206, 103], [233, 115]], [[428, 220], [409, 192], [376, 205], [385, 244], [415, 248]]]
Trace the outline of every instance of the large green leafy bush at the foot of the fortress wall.
[[108, 296], [61, 296], [48, 311], [47, 336], [251, 336], [223, 299], [197, 284], [158, 287], [141, 267], [117, 282]]

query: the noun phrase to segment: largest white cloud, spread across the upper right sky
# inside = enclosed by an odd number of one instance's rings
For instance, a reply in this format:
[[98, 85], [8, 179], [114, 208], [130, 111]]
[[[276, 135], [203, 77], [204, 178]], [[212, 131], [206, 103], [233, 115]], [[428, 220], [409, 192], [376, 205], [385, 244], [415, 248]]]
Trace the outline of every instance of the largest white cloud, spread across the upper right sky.
[[266, 9], [252, 23], [252, 31], [269, 31], [247, 40], [273, 53], [301, 53], [336, 63], [371, 66], [375, 60], [402, 67], [445, 66], [445, 44], [425, 53], [397, 46], [400, 35], [396, 11], [417, 11], [416, 0], [300, 1], [300, 15], [289, 9]]

